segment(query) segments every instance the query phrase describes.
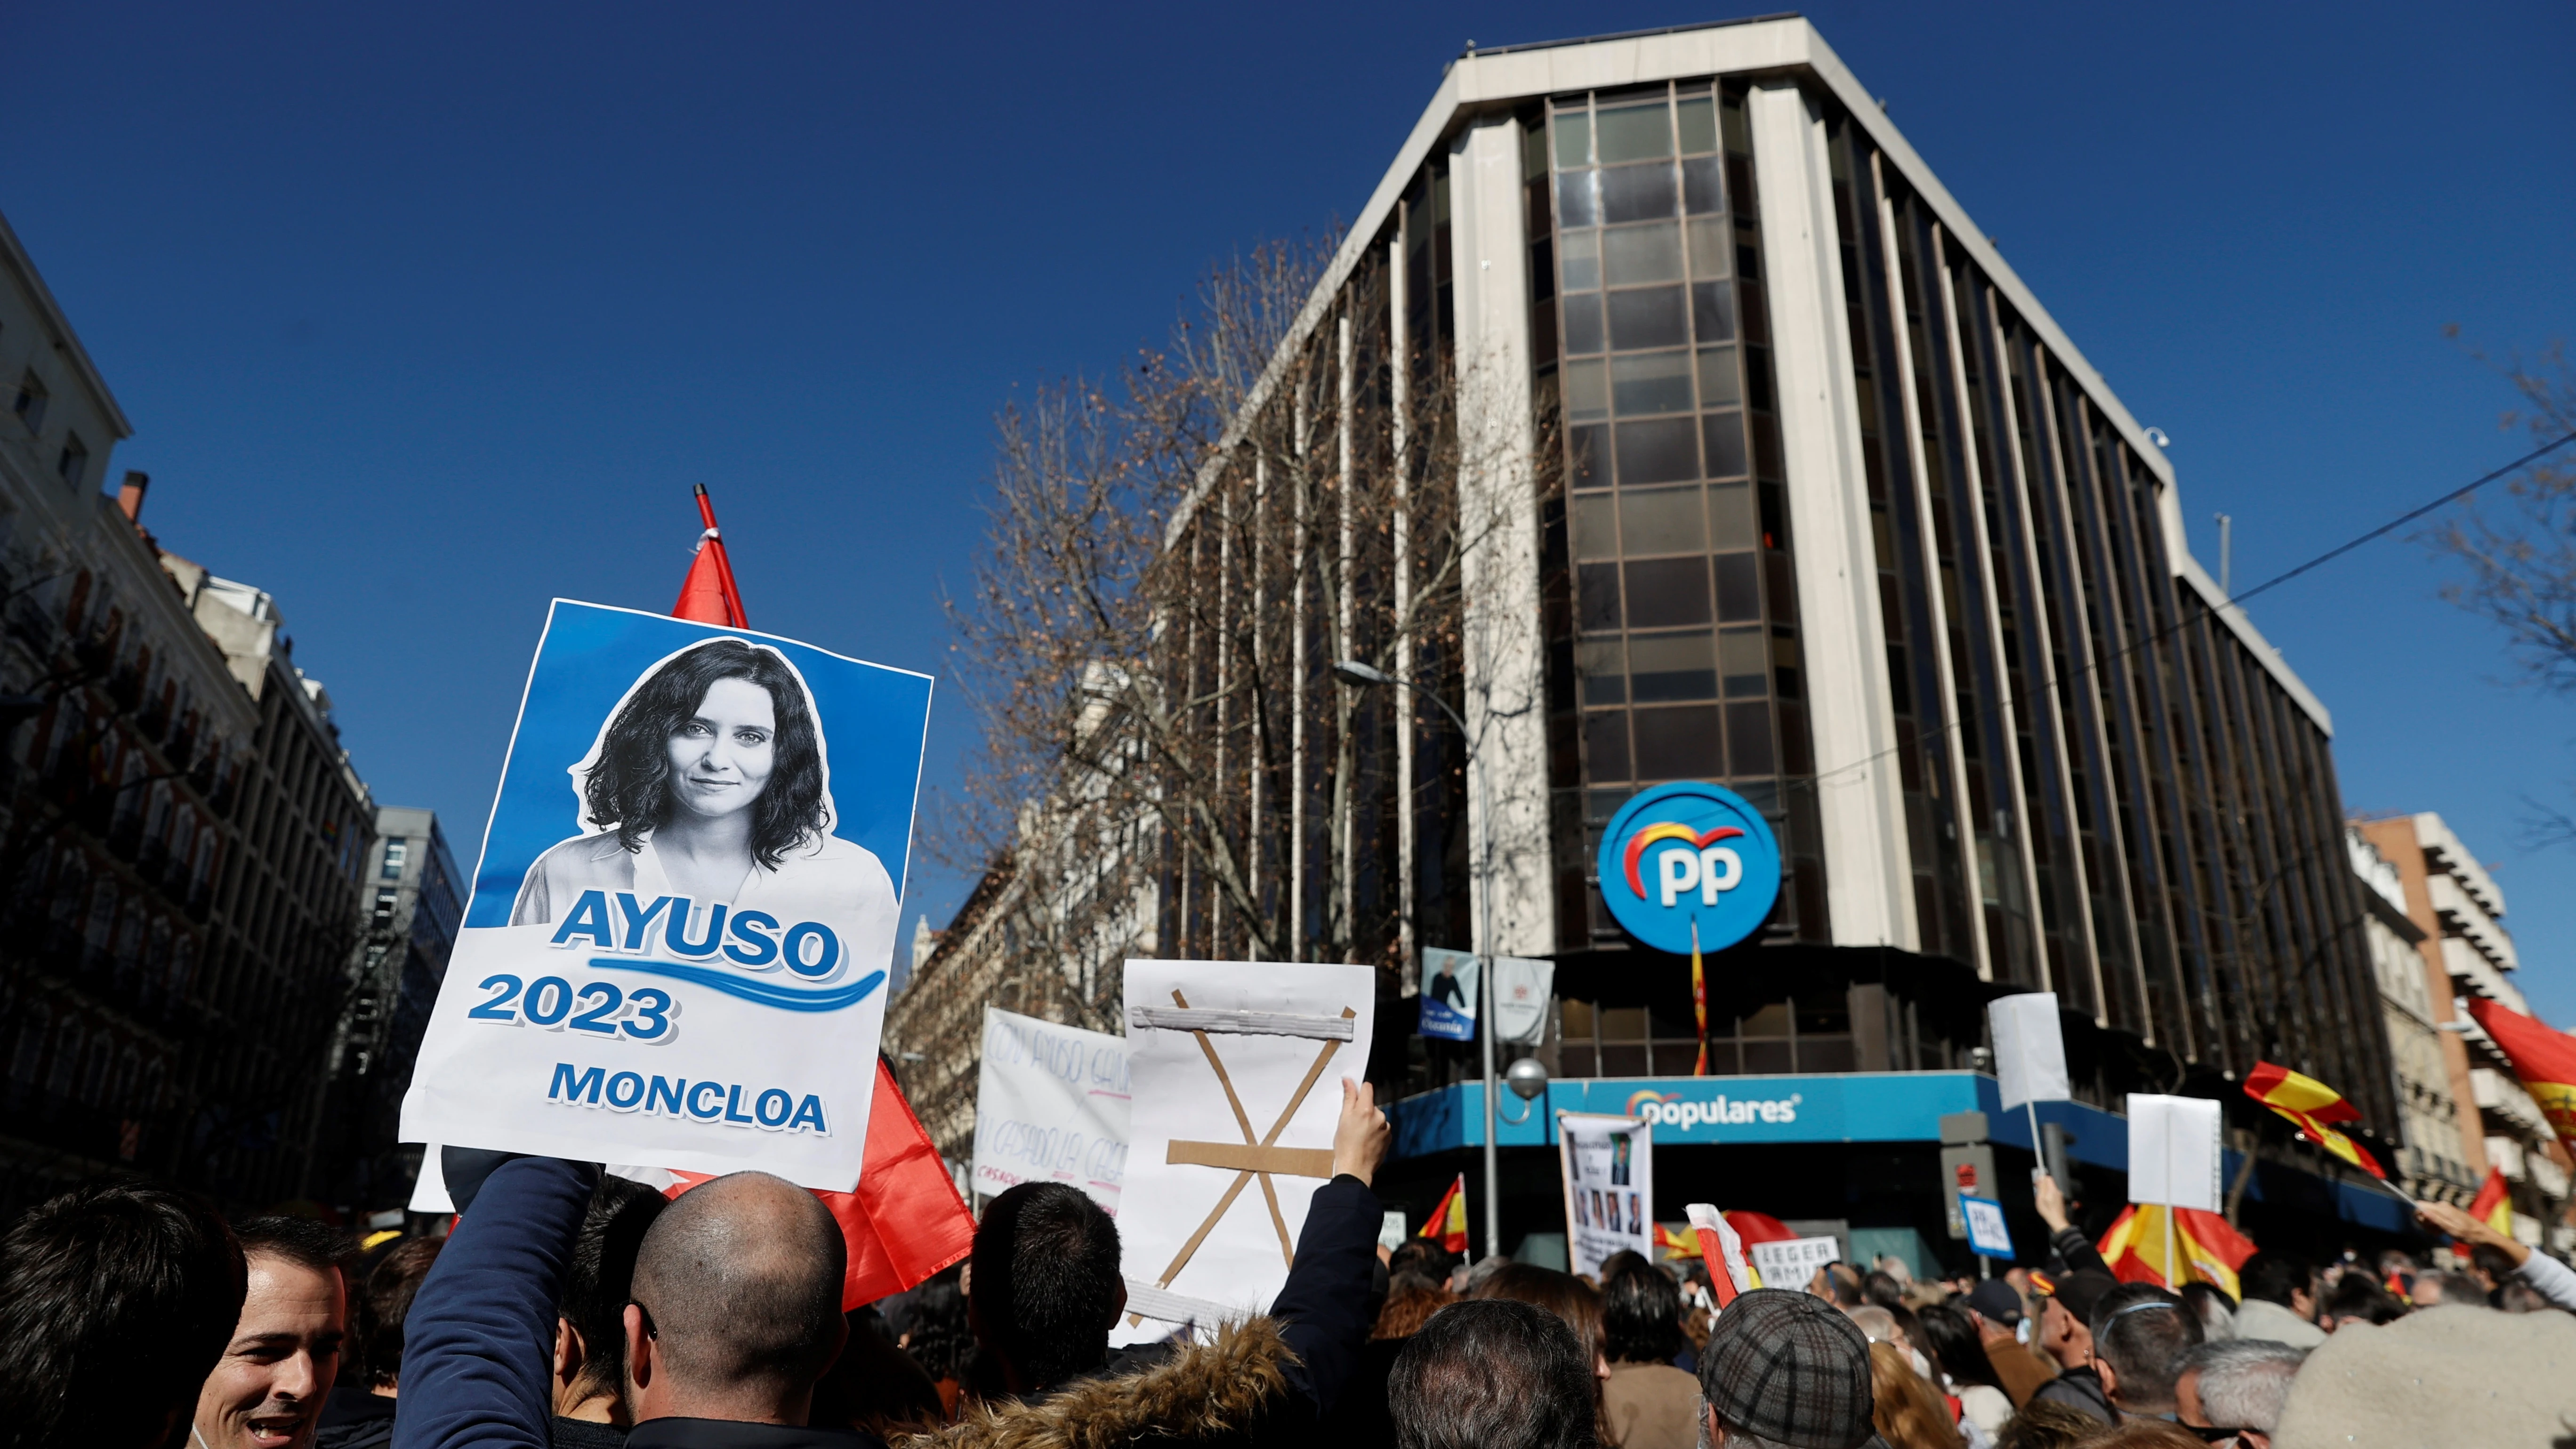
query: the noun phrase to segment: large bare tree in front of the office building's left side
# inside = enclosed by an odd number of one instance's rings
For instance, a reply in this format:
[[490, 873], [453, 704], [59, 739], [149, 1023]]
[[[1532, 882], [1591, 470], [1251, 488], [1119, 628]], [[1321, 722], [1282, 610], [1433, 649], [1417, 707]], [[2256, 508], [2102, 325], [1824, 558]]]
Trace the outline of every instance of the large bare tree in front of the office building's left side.
[[1010, 861], [1023, 1008], [1105, 1026], [1128, 954], [1399, 969], [1414, 822], [1463, 825], [1422, 799], [1463, 799], [1437, 706], [1332, 673], [1458, 699], [1492, 529], [1458, 503], [1455, 376], [1404, 340], [1383, 258], [1316, 291], [1332, 242], [1216, 268], [1167, 348], [999, 415], [951, 601], [981, 745], [935, 848]]

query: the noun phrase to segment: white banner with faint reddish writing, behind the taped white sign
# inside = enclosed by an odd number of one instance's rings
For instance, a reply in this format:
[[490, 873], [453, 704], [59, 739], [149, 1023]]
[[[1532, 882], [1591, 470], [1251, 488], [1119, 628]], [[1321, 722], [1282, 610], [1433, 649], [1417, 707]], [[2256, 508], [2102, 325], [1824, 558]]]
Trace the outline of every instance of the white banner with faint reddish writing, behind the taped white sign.
[[1126, 1036], [984, 1008], [974, 1191], [1074, 1183], [1115, 1217], [1126, 1132]]

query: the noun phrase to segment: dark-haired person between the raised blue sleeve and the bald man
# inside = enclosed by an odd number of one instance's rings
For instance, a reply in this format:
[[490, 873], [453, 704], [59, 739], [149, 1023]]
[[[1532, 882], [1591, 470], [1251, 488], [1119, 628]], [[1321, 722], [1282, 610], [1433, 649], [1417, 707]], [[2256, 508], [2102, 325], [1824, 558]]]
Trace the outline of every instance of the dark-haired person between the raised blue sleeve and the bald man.
[[626, 1299], [644, 1230], [667, 1199], [644, 1183], [600, 1178], [572, 1240], [564, 1292], [554, 1305], [554, 1444], [626, 1444]]

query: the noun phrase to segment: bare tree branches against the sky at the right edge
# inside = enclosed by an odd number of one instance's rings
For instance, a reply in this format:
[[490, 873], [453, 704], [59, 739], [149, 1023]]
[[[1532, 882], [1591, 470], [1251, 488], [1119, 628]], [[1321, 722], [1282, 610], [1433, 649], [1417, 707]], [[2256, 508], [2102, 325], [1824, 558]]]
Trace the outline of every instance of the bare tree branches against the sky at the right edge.
[[[2458, 327], [2450, 327], [2458, 338]], [[2566, 343], [2540, 356], [2494, 361], [2522, 397], [2504, 413], [2504, 428], [2524, 428], [2550, 443], [2576, 433], [2576, 366]], [[2553, 454], [2506, 482], [2499, 508], [2463, 505], [2424, 541], [2465, 567], [2442, 598], [2504, 629], [2524, 683], [2576, 691], [2576, 449]], [[2576, 815], [2527, 799], [2530, 833], [2548, 843], [2576, 843]]]

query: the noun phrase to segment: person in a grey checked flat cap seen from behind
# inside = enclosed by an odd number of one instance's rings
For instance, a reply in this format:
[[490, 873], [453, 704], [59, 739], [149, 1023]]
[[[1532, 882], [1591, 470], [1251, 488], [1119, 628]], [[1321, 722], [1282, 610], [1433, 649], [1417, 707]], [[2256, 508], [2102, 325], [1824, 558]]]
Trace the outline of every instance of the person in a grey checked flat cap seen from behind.
[[1700, 1351], [1700, 1397], [1710, 1449], [1860, 1449], [1875, 1434], [1870, 1341], [1821, 1297], [1744, 1292]]

